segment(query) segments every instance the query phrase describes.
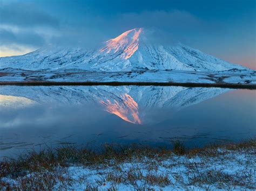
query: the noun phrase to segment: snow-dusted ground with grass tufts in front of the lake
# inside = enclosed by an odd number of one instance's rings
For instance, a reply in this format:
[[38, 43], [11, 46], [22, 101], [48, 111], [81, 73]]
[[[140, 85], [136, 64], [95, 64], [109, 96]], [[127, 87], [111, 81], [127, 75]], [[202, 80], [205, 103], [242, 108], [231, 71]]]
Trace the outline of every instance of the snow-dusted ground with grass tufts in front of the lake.
[[[113, 151], [109, 150], [109, 155], [111, 152]], [[63, 158], [70, 161], [68, 164], [50, 165], [45, 169], [42, 167], [41, 171], [34, 167], [38, 172], [27, 172], [17, 178], [5, 174], [0, 179], [0, 188], [2, 185], [2, 189], [256, 189], [254, 140], [245, 146], [209, 147], [190, 151], [185, 155], [168, 151], [153, 153], [150, 150], [129, 155], [130, 152], [127, 150], [123, 155], [113, 154], [94, 165], [90, 161], [98, 158], [74, 164], [72, 160], [76, 159], [76, 154], [63, 152], [62, 154], [66, 154]], [[153, 154], [149, 154], [150, 152]], [[89, 158], [89, 155], [84, 155], [84, 158]], [[37, 160], [40, 164], [40, 157]], [[2, 164], [2, 169], [4, 167]]]

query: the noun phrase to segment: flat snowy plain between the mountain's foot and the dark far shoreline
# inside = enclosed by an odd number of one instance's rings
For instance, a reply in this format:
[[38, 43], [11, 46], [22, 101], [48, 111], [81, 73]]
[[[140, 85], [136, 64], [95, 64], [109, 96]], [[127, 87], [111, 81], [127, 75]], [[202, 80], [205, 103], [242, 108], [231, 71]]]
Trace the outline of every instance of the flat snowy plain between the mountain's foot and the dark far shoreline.
[[173, 82], [256, 84], [256, 71], [231, 69], [220, 72], [184, 70], [138, 70], [130, 72], [91, 72], [85, 70], [30, 71], [5, 68], [1, 82]]

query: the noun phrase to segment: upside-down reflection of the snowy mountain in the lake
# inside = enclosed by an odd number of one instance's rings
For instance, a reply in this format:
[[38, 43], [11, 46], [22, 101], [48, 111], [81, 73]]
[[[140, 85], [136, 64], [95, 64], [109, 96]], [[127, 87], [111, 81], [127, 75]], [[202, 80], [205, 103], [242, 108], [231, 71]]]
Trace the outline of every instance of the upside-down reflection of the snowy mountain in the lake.
[[[224, 88], [187, 88], [187, 87], [137, 87], [137, 86], [52, 86], [52, 87], [16, 87], [0, 86], [2, 97], [11, 97], [12, 103], [28, 105], [32, 103], [59, 107], [65, 105], [96, 104], [95, 107], [114, 114], [134, 124], [159, 122], [152, 117], [152, 111], [168, 109], [175, 112], [190, 105], [223, 94]], [[0, 95], [1, 97], [1, 95]], [[15, 99], [17, 98], [17, 99]], [[23, 100], [22, 100], [22, 99]], [[10, 99], [3, 100], [2, 105], [10, 105]], [[0, 102], [1, 106], [1, 102]], [[1, 109], [1, 107], [0, 107]], [[6, 109], [3, 107], [2, 109]], [[171, 113], [163, 114], [163, 118]]]

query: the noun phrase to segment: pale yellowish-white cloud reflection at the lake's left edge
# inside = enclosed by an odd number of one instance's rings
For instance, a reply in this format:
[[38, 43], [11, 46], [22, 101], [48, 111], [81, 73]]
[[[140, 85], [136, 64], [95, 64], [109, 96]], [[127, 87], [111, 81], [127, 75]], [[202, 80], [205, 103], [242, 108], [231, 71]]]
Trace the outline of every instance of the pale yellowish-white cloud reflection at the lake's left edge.
[[37, 103], [35, 101], [30, 100], [26, 97], [0, 95], [0, 109], [24, 108], [24, 107], [30, 107], [36, 104]]

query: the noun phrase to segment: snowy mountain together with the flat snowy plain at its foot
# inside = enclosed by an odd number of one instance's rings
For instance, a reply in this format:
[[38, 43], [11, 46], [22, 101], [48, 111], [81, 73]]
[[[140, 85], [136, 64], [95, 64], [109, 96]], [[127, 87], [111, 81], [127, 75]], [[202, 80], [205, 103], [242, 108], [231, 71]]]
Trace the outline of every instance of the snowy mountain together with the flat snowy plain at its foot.
[[96, 49], [48, 46], [0, 58], [1, 81], [256, 83], [255, 71], [183, 44], [153, 43], [143, 28]]

